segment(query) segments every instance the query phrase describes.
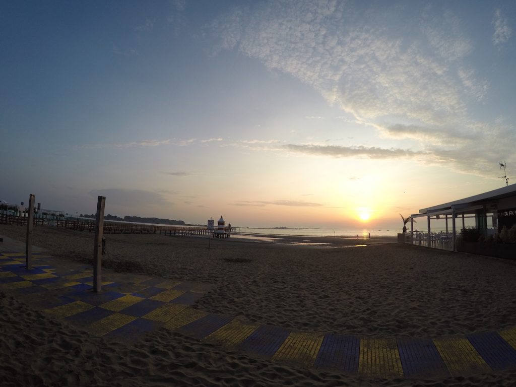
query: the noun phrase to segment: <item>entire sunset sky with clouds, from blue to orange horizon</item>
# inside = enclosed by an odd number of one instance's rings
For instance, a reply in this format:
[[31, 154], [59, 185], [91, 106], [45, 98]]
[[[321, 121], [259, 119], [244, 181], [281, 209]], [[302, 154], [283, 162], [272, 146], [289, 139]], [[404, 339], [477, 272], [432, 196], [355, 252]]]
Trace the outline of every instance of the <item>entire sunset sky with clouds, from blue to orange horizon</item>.
[[516, 2], [0, 0], [0, 199], [402, 227], [516, 183]]

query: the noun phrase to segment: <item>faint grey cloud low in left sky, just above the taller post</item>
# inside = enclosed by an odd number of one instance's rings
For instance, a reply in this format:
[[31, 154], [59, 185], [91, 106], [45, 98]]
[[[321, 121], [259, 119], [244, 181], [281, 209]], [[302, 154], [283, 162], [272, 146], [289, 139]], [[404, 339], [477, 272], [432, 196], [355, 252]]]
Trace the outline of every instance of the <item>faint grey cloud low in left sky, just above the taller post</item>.
[[106, 205], [116, 207], [144, 208], [148, 206], [170, 205], [162, 195], [140, 189], [104, 188], [88, 192], [92, 198], [106, 197]]

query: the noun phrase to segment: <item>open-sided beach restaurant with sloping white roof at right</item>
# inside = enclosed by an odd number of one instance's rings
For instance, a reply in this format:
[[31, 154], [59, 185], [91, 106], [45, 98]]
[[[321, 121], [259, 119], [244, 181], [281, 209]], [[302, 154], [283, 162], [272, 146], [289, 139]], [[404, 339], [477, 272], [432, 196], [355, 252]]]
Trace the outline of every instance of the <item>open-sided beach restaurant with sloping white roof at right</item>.
[[[410, 233], [406, 233], [405, 243], [450, 251], [466, 251], [465, 241], [457, 237], [463, 230], [462, 236], [469, 232], [478, 235], [479, 239], [475, 241], [477, 245], [473, 247], [474, 251], [467, 252], [493, 255], [488, 251], [478, 250], [479, 243], [482, 240], [494, 239], [497, 233], [502, 232], [504, 226], [510, 230], [516, 224], [516, 184], [423, 208], [410, 218]], [[416, 225], [423, 230], [415, 229]], [[516, 249], [512, 245], [514, 244], [510, 244], [509, 248], [514, 253]], [[505, 247], [501, 247], [503, 248]]]

